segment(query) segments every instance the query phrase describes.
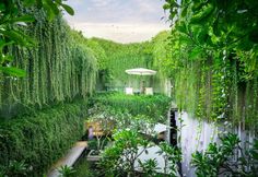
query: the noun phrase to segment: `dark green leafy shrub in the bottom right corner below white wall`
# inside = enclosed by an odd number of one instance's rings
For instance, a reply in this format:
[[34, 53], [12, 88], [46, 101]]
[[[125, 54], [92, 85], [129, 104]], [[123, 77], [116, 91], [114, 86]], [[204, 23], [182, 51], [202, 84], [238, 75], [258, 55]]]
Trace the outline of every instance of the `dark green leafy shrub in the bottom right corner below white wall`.
[[191, 164], [196, 167], [199, 177], [211, 176], [248, 176], [258, 174], [258, 141], [255, 140], [253, 149], [245, 151], [239, 145], [236, 134], [226, 134], [220, 138], [221, 144], [210, 143], [204, 152], [192, 154]]

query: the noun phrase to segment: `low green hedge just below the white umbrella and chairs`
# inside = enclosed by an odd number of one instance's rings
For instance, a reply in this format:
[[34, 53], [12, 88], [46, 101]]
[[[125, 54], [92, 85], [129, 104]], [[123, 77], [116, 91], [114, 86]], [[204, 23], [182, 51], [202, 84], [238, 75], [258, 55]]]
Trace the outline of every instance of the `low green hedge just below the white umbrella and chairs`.
[[128, 110], [132, 116], [145, 115], [161, 120], [166, 117], [171, 98], [164, 95], [97, 94], [92, 104], [98, 103], [117, 110]]

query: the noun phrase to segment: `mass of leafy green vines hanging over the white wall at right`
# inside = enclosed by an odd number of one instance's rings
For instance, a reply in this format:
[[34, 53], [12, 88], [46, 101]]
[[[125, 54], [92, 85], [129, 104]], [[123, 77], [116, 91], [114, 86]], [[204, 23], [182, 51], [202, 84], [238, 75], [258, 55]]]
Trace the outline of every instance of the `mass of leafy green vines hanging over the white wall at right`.
[[174, 24], [169, 68], [180, 108], [257, 127], [257, 7], [255, 0], [166, 0]]

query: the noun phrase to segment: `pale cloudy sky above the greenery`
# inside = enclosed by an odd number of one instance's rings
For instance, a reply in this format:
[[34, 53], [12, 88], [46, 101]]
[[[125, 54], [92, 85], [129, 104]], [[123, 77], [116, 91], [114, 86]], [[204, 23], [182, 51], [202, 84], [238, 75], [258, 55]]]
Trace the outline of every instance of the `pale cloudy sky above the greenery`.
[[164, 0], [68, 0], [75, 12], [64, 19], [85, 37], [101, 37], [117, 43], [149, 40], [168, 30]]

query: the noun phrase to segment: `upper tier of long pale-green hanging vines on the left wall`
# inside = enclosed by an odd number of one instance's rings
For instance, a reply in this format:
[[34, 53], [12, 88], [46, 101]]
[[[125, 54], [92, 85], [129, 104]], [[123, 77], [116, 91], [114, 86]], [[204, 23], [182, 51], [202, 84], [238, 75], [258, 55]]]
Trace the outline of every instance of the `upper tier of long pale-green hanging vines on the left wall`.
[[49, 21], [46, 12], [37, 8], [21, 11], [35, 19], [19, 28], [35, 44], [31, 48], [16, 45], [5, 48], [13, 57], [9, 64], [24, 70], [26, 75], [0, 73], [0, 117], [85, 98], [95, 87], [97, 73], [96, 58], [85, 40], [79, 39], [80, 34], [72, 32], [61, 16]]

